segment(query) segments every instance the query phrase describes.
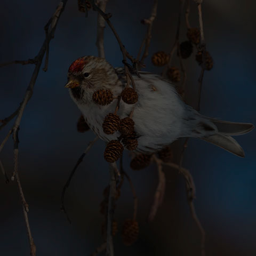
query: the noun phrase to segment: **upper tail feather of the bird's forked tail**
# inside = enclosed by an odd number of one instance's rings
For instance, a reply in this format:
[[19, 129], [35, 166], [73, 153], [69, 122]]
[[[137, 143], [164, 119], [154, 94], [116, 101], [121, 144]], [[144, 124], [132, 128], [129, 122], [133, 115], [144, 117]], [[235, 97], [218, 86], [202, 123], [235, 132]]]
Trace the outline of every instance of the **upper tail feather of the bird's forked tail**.
[[211, 121], [217, 126], [219, 133], [223, 135], [242, 135], [254, 128], [254, 125], [250, 123], [235, 123], [217, 119], [211, 119]]

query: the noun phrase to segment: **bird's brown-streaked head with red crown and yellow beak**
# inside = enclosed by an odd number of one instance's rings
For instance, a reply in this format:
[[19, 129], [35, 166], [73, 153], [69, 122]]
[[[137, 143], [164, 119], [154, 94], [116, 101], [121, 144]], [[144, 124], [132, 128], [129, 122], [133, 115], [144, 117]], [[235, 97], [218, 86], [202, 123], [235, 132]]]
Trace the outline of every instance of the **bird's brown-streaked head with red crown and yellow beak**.
[[115, 69], [103, 58], [84, 56], [75, 60], [68, 69], [71, 97], [79, 103], [88, 103], [98, 89], [114, 90], [118, 82]]

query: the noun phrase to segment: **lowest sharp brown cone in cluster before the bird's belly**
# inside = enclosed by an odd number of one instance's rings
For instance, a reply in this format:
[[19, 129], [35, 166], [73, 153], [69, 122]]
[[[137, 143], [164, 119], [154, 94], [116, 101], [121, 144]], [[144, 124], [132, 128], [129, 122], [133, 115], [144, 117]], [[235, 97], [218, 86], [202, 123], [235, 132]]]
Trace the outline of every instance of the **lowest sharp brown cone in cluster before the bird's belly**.
[[122, 155], [123, 145], [118, 140], [110, 140], [104, 152], [104, 158], [109, 163], [114, 163]]

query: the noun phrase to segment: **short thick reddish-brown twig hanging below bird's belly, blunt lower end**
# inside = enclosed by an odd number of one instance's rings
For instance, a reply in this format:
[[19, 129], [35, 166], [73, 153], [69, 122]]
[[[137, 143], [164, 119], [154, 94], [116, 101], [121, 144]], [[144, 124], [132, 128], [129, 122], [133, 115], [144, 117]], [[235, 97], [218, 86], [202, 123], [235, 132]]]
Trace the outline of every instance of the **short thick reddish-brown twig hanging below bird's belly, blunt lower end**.
[[154, 201], [149, 212], [149, 216], [148, 216], [149, 221], [153, 221], [153, 219], [155, 218], [156, 212], [159, 206], [163, 202], [164, 193], [165, 193], [165, 174], [163, 172], [163, 161], [158, 157], [156, 157], [156, 155], [153, 155], [153, 159], [157, 164], [158, 185], [155, 191]]

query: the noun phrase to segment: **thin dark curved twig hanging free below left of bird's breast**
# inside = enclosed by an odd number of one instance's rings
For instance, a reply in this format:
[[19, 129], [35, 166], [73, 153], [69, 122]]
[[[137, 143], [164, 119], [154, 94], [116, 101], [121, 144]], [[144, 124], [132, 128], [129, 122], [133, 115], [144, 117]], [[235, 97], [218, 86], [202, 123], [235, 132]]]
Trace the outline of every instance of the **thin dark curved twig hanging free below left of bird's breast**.
[[79, 166], [79, 164], [82, 163], [82, 161], [83, 161], [85, 155], [87, 154], [87, 152], [91, 149], [91, 147], [93, 146], [93, 144], [94, 144], [98, 139], [99, 139], [99, 137], [96, 136], [96, 137], [94, 138], [94, 140], [92, 140], [92, 141], [89, 142], [89, 144], [88, 144], [87, 148], [84, 150], [83, 154], [78, 158], [75, 167], [73, 168], [73, 170], [72, 170], [71, 173], [69, 174], [68, 180], [67, 180], [67, 182], [65, 183], [65, 185], [64, 185], [64, 187], [63, 187], [63, 189], [62, 189], [61, 199], [60, 199], [60, 201], [61, 201], [61, 207], [60, 207], [60, 209], [65, 213], [65, 215], [66, 215], [66, 217], [67, 217], [67, 220], [68, 220], [68, 222], [69, 222], [70, 224], [71, 224], [71, 220], [70, 220], [69, 217], [68, 217], [68, 213], [67, 213], [67, 211], [66, 211], [65, 204], [64, 204], [64, 197], [65, 197], [66, 189], [69, 187], [69, 184], [70, 184], [71, 179], [73, 178], [73, 176], [74, 176], [74, 174], [75, 174], [75, 172], [76, 172], [77, 167]]

